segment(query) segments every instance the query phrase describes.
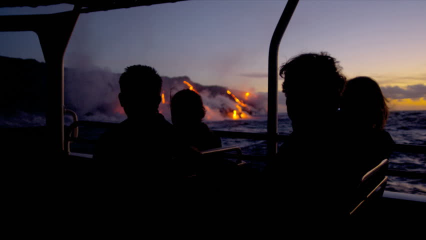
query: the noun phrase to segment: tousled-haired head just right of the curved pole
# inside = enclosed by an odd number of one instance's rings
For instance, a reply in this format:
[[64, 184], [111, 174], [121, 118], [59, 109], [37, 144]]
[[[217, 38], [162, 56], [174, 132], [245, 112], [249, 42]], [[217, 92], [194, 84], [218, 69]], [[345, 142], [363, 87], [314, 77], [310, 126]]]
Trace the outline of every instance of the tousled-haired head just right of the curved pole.
[[326, 52], [320, 52], [303, 53], [281, 65], [282, 92], [293, 128], [316, 121], [312, 118], [319, 118], [317, 114], [327, 119], [337, 111], [346, 81], [337, 63]]

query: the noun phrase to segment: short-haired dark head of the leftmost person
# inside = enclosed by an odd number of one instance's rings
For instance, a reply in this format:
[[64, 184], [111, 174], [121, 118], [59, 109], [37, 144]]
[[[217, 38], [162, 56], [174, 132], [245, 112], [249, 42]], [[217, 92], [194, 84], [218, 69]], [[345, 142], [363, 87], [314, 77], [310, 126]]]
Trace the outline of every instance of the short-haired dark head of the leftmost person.
[[118, 98], [127, 117], [158, 111], [162, 79], [157, 71], [145, 65], [125, 68], [119, 79]]

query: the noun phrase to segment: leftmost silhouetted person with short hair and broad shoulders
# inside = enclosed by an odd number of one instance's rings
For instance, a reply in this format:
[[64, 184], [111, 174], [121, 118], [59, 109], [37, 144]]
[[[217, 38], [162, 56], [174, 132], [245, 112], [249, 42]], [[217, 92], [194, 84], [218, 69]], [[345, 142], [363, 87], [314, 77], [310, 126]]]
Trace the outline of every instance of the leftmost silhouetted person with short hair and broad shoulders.
[[167, 174], [172, 157], [172, 125], [158, 113], [162, 79], [145, 65], [125, 68], [119, 78], [119, 102], [127, 119], [105, 132], [93, 158], [128, 164], [127, 170], [143, 175]]

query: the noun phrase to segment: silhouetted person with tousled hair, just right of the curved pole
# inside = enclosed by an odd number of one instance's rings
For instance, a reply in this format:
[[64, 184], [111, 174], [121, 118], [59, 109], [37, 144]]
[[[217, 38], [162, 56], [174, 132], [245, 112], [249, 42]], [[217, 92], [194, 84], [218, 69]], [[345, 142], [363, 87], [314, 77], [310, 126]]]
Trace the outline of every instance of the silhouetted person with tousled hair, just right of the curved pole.
[[281, 65], [279, 74], [293, 131], [266, 167], [272, 194], [283, 194], [277, 198], [293, 216], [339, 216], [345, 169], [339, 165], [337, 109], [345, 77], [325, 52], [297, 55]]

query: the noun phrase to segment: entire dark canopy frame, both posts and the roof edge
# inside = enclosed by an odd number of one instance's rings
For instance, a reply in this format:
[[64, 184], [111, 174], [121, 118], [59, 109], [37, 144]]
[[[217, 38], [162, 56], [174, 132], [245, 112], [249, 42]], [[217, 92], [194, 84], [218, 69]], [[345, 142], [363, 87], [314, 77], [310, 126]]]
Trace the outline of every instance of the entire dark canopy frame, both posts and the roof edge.
[[[0, 31], [34, 31], [40, 41], [44, 60], [47, 65], [47, 151], [52, 155], [65, 153], [64, 149], [64, 80], [63, 56], [69, 38], [80, 13], [128, 8], [140, 5], [152, 5], [181, 0], [150, 0], [150, 1], [103, 1], [103, 4], [84, 5], [84, 1], [13, 1], [3, 2], [0, 7], [7, 6], [39, 6], [58, 3], [74, 4], [72, 11], [37, 15], [6, 15], [0, 16]], [[106, 3], [105, 3], [106, 2]], [[267, 113], [267, 152], [273, 155], [277, 150], [277, 68], [278, 49], [282, 35], [291, 19], [298, 0], [288, 0], [272, 34], [269, 45], [268, 59], [268, 113]], [[83, 8], [82, 8], [83, 7]], [[61, 25], [52, 24], [61, 23]]]

